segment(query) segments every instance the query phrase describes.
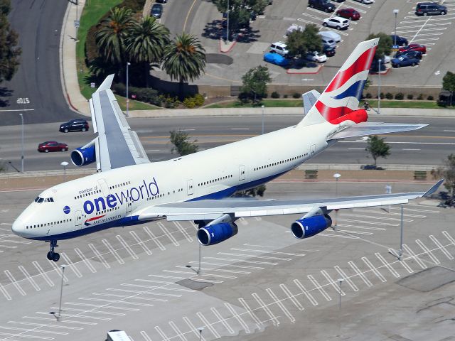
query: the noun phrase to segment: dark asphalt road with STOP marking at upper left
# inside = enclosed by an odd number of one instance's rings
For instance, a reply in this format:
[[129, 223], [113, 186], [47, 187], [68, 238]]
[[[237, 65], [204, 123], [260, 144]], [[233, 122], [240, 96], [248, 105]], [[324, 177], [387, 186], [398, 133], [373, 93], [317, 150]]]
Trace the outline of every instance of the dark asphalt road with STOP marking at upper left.
[[9, 16], [19, 35], [21, 65], [11, 82], [2, 82], [0, 125], [65, 121], [68, 109], [60, 82], [60, 30], [68, 1], [13, 0]]

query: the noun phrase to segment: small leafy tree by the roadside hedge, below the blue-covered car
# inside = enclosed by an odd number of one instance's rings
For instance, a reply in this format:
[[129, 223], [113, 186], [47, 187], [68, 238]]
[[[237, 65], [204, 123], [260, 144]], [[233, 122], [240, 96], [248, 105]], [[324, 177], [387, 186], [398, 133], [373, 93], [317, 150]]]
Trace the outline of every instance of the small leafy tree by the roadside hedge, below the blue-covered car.
[[242, 77], [242, 88], [240, 89], [242, 96], [252, 98], [255, 103], [257, 98], [265, 97], [267, 94], [267, 83], [272, 79], [267, 66], [257, 66], [248, 70]]

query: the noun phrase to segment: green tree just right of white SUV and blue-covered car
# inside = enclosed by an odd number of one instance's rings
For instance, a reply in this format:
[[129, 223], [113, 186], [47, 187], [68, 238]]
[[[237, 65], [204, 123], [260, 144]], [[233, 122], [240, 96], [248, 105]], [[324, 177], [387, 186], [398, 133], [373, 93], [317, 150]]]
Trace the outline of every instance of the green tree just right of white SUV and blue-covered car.
[[304, 31], [293, 31], [287, 36], [287, 48], [291, 57], [304, 58], [309, 51], [322, 50], [322, 38], [318, 34], [319, 28], [310, 23]]

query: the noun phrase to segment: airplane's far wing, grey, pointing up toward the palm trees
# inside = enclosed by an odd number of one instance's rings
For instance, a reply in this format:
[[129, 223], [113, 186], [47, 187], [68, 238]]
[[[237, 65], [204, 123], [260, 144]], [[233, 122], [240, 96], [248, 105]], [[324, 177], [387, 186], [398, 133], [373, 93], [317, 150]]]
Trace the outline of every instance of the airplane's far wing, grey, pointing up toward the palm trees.
[[95, 139], [97, 169], [102, 172], [150, 162], [110, 90], [113, 79], [114, 75], [109, 75], [89, 101], [93, 130], [98, 134]]

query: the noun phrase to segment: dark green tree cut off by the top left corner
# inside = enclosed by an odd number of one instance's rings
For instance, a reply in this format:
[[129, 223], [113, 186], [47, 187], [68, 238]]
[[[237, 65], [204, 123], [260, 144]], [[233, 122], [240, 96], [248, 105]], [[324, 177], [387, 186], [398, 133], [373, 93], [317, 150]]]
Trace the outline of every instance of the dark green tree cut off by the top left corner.
[[0, 82], [11, 80], [19, 66], [21, 48], [18, 48], [18, 34], [11, 29], [8, 14], [9, 0], [0, 0]]

